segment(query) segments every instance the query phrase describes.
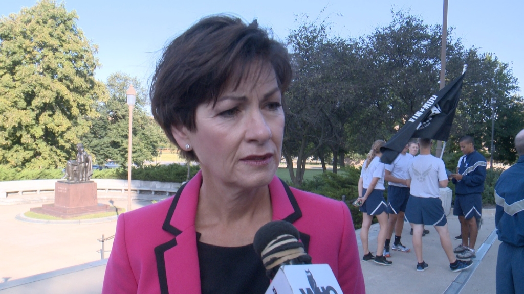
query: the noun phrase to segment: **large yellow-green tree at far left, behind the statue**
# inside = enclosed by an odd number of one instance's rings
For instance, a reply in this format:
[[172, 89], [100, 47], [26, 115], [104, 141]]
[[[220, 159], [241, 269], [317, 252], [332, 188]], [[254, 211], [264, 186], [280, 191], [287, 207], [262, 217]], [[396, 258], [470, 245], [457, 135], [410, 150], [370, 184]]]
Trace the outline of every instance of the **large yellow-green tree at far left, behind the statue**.
[[77, 19], [52, 0], [0, 18], [0, 165], [63, 166], [107, 99]]

